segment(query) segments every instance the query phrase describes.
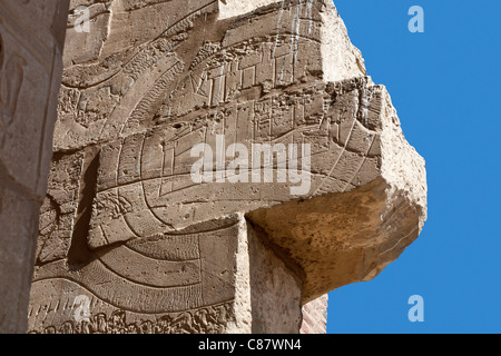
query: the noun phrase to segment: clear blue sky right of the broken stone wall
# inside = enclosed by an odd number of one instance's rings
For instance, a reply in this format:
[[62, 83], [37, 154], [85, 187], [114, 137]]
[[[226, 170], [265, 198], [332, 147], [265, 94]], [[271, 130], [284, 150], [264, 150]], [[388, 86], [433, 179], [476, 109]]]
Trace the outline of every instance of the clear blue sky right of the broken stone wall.
[[[374, 280], [330, 293], [327, 333], [501, 333], [501, 1], [334, 3], [426, 160], [429, 218]], [[407, 29], [412, 6], [424, 33]]]

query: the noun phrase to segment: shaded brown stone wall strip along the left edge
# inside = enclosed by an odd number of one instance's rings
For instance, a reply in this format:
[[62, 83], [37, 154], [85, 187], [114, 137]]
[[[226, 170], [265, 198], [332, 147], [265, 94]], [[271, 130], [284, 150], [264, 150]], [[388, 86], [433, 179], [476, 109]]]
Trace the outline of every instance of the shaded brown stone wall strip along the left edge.
[[0, 333], [26, 333], [69, 1], [0, 2]]

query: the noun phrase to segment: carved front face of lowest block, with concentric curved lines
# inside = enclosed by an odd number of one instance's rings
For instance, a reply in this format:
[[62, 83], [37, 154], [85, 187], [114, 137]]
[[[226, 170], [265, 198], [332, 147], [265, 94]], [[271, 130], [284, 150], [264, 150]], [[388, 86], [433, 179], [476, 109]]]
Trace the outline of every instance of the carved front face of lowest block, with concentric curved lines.
[[[232, 320], [228, 308], [235, 293], [236, 224], [235, 218], [215, 220], [185, 231], [132, 239], [118, 247], [110, 245], [92, 253], [84, 266], [71, 267], [59, 258], [36, 268], [32, 329], [43, 326], [48, 332], [49, 320], [67, 320], [72, 330], [82, 327], [96, 332], [95, 326], [75, 325], [71, 299], [78, 295], [90, 296], [89, 313], [96, 320], [118, 308], [122, 315], [131, 313], [132, 320], [149, 320], [147, 316], [155, 315], [157, 319], [149, 324], [176, 332], [224, 329], [225, 323]], [[105, 230], [102, 234], [107, 239]], [[61, 289], [65, 294], [53, 299]], [[139, 322], [135, 322], [135, 332], [143, 330]]]

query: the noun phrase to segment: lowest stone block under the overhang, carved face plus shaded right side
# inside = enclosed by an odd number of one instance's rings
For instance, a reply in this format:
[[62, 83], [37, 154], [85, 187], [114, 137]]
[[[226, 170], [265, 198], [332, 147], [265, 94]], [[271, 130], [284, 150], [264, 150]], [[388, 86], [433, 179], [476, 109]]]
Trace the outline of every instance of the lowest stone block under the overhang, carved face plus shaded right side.
[[31, 332], [297, 332], [301, 280], [256, 234], [234, 215], [96, 250], [85, 265], [49, 263], [35, 274]]

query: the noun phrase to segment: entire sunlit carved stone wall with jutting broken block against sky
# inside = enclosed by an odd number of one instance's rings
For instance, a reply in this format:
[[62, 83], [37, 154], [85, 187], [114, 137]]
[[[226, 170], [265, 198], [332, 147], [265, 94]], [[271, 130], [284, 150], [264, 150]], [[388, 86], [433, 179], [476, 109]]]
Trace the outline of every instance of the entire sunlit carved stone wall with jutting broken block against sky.
[[80, 4], [32, 332], [298, 333], [418, 237], [424, 160], [331, 1]]

